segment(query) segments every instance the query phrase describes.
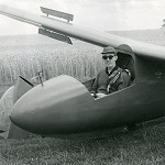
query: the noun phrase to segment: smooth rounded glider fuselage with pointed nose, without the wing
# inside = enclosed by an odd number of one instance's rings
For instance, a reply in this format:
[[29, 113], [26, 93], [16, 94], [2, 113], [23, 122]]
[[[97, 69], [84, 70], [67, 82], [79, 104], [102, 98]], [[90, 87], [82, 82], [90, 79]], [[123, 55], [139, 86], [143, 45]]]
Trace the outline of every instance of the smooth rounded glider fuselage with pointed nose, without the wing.
[[87, 88], [63, 75], [28, 91], [11, 120], [22, 129], [56, 136], [110, 129], [165, 116], [165, 68], [136, 58], [135, 82], [95, 100]]

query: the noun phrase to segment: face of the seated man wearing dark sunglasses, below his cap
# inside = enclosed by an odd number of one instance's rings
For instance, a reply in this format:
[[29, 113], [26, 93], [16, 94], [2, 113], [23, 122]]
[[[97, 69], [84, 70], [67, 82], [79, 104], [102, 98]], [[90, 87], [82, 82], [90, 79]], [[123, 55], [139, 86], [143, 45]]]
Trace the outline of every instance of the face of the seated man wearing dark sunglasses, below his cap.
[[116, 66], [116, 61], [118, 59], [118, 56], [114, 53], [107, 53], [102, 55], [102, 59], [106, 67], [113, 68]]

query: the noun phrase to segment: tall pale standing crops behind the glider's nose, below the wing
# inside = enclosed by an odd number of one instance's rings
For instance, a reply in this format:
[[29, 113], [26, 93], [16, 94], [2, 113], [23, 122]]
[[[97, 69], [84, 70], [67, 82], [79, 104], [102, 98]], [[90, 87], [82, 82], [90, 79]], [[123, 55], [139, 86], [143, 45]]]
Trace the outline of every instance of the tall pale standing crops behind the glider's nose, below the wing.
[[43, 69], [47, 78], [62, 74], [79, 80], [94, 77], [103, 67], [101, 48], [73, 41], [68, 45], [41, 35], [0, 37], [0, 84], [13, 84], [18, 75], [28, 79]]

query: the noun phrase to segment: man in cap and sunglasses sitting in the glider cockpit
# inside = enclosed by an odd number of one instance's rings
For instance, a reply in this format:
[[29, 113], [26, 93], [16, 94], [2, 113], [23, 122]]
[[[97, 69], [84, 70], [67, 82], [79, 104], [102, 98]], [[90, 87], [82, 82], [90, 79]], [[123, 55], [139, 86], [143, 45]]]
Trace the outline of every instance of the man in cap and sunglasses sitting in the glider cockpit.
[[101, 54], [106, 68], [98, 74], [92, 84], [90, 92], [95, 98], [102, 98], [108, 94], [128, 87], [131, 77], [129, 70], [117, 66], [118, 55], [113, 47], [105, 47]]

